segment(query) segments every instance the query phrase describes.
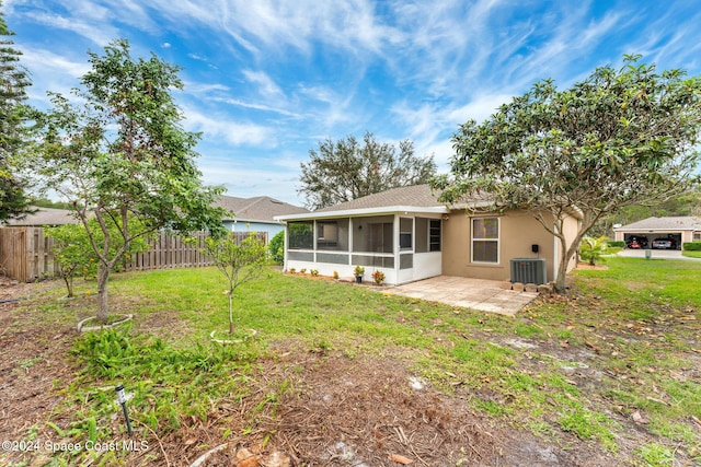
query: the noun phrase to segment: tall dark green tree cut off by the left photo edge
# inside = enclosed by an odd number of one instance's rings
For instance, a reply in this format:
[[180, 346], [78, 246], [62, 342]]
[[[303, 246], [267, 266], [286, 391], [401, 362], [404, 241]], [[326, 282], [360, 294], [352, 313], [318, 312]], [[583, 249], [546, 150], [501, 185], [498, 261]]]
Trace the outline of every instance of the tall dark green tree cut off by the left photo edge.
[[16, 176], [11, 165], [26, 139], [25, 90], [32, 84], [20, 65], [22, 52], [14, 48], [12, 35], [0, 13], [0, 223], [31, 212], [24, 180]]

